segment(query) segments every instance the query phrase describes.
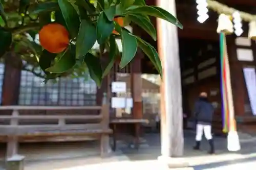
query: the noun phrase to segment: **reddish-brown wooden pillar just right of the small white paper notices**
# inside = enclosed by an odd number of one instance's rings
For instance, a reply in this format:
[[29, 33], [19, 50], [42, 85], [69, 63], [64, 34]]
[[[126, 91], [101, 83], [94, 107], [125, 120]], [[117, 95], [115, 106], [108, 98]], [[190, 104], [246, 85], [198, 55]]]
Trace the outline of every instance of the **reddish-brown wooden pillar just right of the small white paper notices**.
[[[142, 110], [142, 78], [141, 78], [141, 53], [138, 51], [135, 59], [131, 63], [131, 93], [133, 98], [132, 114], [133, 118], [141, 119], [143, 117]], [[135, 147], [139, 147], [139, 136], [141, 126], [135, 124]]]

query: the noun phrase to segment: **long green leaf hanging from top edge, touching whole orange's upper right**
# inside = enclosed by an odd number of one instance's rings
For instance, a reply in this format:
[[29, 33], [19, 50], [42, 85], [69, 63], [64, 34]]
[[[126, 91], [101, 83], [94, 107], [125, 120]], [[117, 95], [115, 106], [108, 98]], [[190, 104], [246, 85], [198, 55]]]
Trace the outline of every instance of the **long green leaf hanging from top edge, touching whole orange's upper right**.
[[58, 0], [58, 4], [63, 18], [67, 23], [71, 38], [75, 38], [77, 36], [80, 25], [79, 16], [68, 0]]

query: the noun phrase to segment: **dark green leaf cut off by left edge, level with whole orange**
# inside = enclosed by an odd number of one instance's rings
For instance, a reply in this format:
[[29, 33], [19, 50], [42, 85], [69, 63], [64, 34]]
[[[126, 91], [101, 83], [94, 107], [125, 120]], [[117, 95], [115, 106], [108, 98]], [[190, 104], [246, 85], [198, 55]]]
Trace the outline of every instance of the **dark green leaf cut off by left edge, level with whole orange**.
[[12, 43], [12, 33], [0, 28], [0, 37], [0, 57], [2, 57]]

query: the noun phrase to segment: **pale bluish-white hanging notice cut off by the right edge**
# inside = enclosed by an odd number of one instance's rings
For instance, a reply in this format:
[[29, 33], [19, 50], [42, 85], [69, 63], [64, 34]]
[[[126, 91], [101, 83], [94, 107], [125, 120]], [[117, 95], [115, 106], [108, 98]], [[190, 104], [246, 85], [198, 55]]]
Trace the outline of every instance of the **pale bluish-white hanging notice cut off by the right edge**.
[[256, 72], [255, 68], [243, 68], [244, 78], [249, 95], [251, 111], [256, 115]]

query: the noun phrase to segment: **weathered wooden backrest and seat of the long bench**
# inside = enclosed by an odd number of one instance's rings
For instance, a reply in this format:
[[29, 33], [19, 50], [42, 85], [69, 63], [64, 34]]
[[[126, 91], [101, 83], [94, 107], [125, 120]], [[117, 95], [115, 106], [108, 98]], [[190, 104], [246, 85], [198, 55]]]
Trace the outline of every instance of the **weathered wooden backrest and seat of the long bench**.
[[[0, 135], [37, 135], [40, 133], [79, 133], [108, 129], [108, 107], [102, 106], [1, 106], [0, 110], [11, 110], [11, 115], [0, 114]], [[26, 114], [23, 111], [52, 111], [47, 114]], [[67, 114], [67, 110], [86, 114]], [[97, 110], [99, 114], [88, 114]], [[95, 112], [94, 112], [95, 113]]]

